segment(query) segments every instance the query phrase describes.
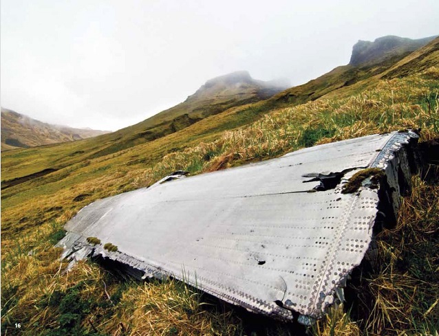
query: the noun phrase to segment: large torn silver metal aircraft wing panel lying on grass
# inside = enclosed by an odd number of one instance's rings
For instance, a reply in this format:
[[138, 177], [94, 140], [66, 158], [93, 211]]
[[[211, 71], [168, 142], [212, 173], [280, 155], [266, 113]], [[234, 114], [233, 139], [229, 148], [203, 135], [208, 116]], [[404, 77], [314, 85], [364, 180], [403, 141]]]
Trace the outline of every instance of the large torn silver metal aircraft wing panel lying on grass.
[[[383, 169], [389, 190], [381, 194], [395, 213], [417, 140], [411, 131], [370, 135], [164, 183], [184, 177], [178, 172], [87, 205], [58, 246], [73, 262], [102, 255], [142, 278], [173, 276], [250, 311], [282, 320], [295, 311], [310, 323], [343, 300], [340, 289], [372, 239], [378, 190], [365, 181], [342, 194], [343, 184], [363, 168]], [[334, 177], [335, 188], [317, 188]]]

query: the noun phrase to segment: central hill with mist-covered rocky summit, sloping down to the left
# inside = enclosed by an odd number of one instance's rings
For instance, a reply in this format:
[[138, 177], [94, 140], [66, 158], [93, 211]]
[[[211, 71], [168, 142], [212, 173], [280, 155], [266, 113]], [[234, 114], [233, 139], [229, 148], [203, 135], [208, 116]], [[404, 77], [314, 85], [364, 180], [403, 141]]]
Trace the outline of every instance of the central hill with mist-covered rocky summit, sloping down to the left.
[[106, 146], [95, 153], [94, 157], [159, 139], [233, 107], [266, 100], [286, 89], [284, 83], [285, 80], [273, 82], [255, 80], [247, 71], [237, 71], [213, 78], [175, 107], [133, 126], [122, 128], [111, 135], [105, 135], [101, 141]]

